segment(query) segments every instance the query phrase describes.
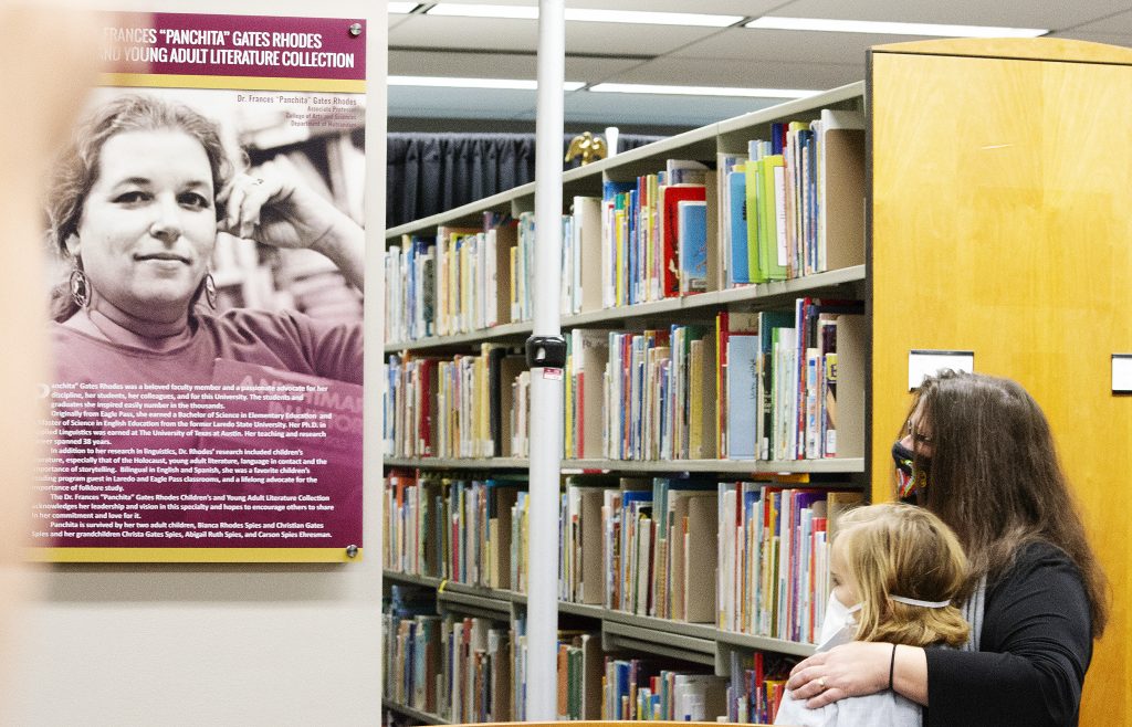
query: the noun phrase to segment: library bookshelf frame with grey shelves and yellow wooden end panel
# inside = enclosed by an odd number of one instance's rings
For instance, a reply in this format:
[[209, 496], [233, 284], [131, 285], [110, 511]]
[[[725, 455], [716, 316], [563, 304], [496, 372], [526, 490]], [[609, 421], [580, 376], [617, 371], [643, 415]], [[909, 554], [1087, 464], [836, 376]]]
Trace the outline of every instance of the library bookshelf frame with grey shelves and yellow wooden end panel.
[[[822, 110], [858, 111], [865, 119], [860, 260], [850, 256], [849, 262], [812, 275], [729, 287], [720, 254], [709, 252], [703, 293], [561, 317], [564, 331], [640, 332], [674, 322], [706, 324], [720, 311], [788, 309], [804, 296], [864, 300], [863, 324], [844, 329], [846, 349], [839, 329], [839, 364], [848, 375], [838, 380], [838, 405], [842, 422], [851, 423], [850, 431], [838, 429], [844, 448], [832, 458], [791, 460], [567, 457], [564, 475], [710, 475], [736, 482], [773, 474], [782, 487], [856, 488], [866, 500], [887, 500], [889, 447], [909, 403], [908, 352], [975, 350], [976, 371], [1021, 381], [1044, 406], [1113, 581], [1114, 603], [1123, 603], [1127, 525], [1122, 509], [1110, 504], [1110, 483], [1113, 471], [1132, 467], [1132, 398], [1113, 396], [1107, 381], [1110, 354], [1132, 350], [1132, 329], [1124, 321], [1132, 308], [1132, 245], [1125, 208], [1113, 204], [1132, 182], [1132, 145], [1114, 139], [1105, 124], [1132, 111], [1127, 92], [1132, 52], [1125, 49], [1047, 38], [878, 46], [869, 53], [867, 81], [566, 172], [563, 198], [569, 207], [574, 197], [601, 197], [607, 182], [653, 174], [667, 159], [715, 164], [721, 154], [741, 154], [752, 139], [767, 138], [774, 123], [814, 120]], [[441, 225], [482, 226], [484, 213], [518, 217], [533, 209], [533, 194], [530, 184], [392, 228], [387, 245], [435, 234]], [[830, 200], [829, 207], [847, 209], [847, 204]], [[720, 226], [709, 234], [719, 240]], [[1080, 345], [1066, 343], [1070, 331]], [[474, 355], [481, 344], [518, 345], [530, 332], [529, 321], [507, 321], [391, 341], [385, 352]], [[1098, 451], [1106, 456], [1097, 457]], [[387, 455], [385, 466], [428, 477], [486, 479], [522, 470], [526, 459]], [[791, 483], [790, 476], [809, 482]], [[511, 589], [443, 583], [394, 570], [386, 570], [386, 579], [432, 589], [441, 612], [464, 608], [514, 623], [525, 604], [523, 594]], [[813, 649], [800, 641], [569, 599], [559, 600], [559, 617], [571, 624], [581, 620], [611, 650], [677, 658], [719, 676], [732, 673], [730, 655], [737, 651], [801, 657]], [[1117, 608], [1097, 644], [1083, 724], [1100, 721], [1114, 709], [1116, 721], [1127, 717], [1127, 625], [1125, 611]]]

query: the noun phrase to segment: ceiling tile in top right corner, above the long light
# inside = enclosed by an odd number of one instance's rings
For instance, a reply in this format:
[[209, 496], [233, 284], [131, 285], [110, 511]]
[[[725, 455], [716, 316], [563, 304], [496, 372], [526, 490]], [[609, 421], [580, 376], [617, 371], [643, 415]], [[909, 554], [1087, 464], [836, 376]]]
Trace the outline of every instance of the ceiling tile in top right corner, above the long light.
[[1078, 0], [1077, 2], [1035, 2], [1034, 0], [950, 0], [949, 2], [909, 2], [908, 0], [795, 0], [775, 8], [771, 15], [799, 18], [844, 18], [852, 20], [893, 20], [900, 23], [949, 23], [1004, 27], [1061, 29], [1127, 10], [1127, 0]]

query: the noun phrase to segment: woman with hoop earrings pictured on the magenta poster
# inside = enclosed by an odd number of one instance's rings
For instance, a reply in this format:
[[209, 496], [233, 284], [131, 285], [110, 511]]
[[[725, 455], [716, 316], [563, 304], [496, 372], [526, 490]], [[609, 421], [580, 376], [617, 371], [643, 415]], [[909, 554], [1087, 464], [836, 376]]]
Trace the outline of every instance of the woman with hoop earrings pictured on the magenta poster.
[[321, 252], [362, 288], [363, 232], [273, 165], [235, 173], [215, 123], [151, 96], [112, 101], [63, 154], [52, 241], [59, 382], [208, 382], [216, 360], [361, 382], [361, 326], [291, 312], [217, 313], [208, 266], [229, 233]]

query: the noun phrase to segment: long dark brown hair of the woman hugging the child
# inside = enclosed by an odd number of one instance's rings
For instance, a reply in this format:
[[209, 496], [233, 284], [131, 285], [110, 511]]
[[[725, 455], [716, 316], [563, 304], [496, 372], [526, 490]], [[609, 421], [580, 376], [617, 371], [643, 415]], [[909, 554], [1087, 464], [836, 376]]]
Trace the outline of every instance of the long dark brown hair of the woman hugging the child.
[[993, 583], [1022, 547], [1049, 543], [1080, 569], [1099, 638], [1107, 581], [1034, 397], [1009, 379], [946, 371], [924, 381], [911, 412], [932, 445], [919, 503], [959, 536], [972, 577]]

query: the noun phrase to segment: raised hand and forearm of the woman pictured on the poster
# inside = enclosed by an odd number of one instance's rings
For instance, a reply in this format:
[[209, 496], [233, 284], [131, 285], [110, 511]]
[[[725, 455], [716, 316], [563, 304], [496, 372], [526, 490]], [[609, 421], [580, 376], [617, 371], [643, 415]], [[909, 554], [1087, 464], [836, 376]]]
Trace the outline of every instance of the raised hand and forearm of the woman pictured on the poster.
[[220, 232], [274, 248], [310, 249], [334, 261], [362, 289], [365, 233], [345, 213], [299, 181], [293, 170], [265, 162], [237, 174], [216, 196], [226, 205]]

